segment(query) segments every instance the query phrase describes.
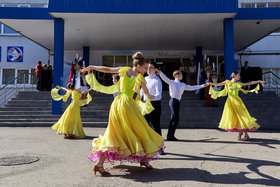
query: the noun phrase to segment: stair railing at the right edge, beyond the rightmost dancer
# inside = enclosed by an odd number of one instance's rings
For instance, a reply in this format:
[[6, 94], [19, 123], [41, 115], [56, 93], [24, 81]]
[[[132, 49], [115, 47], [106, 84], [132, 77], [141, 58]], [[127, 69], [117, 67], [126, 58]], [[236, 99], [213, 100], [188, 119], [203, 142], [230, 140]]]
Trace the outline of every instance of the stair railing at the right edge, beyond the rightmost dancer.
[[263, 73], [263, 80], [266, 82], [263, 87], [264, 91], [273, 91], [280, 96], [280, 77], [269, 70]]

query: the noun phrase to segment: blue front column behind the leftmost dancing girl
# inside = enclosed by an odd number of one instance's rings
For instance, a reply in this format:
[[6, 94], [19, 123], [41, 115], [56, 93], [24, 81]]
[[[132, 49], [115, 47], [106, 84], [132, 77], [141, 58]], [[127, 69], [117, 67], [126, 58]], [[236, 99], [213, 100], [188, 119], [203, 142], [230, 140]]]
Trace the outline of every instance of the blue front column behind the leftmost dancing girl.
[[[54, 70], [53, 85], [63, 85], [63, 68], [64, 68], [64, 20], [61, 18], [54, 19]], [[62, 101], [52, 102], [52, 114], [61, 114]]]

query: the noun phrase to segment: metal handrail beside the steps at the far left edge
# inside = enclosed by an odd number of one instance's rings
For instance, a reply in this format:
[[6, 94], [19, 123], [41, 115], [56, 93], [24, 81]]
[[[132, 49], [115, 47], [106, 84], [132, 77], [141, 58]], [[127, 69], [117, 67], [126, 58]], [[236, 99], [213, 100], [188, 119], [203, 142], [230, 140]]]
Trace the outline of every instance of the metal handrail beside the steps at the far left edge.
[[[31, 81], [30, 84], [32, 85], [31, 86], [31, 89], [33, 90], [33, 84], [32, 84], [32, 80], [33, 80], [33, 76], [34, 74], [33, 73], [26, 73], [26, 72], [23, 72], [21, 73], [19, 76], [15, 77], [15, 78], [12, 78], [11, 80], [9, 80], [2, 88], [0, 88], [0, 93], [3, 92], [4, 94], [1, 94], [0, 95], [0, 108], [3, 107], [8, 101], [10, 101], [15, 95], [18, 94], [18, 90], [20, 89], [20, 87], [18, 87], [18, 85], [23, 85], [23, 91], [25, 90], [25, 85], [28, 84], [26, 83], [26, 75], [29, 76], [31, 75], [31, 80], [28, 78], [28, 82], [29, 80]], [[23, 76], [23, 84], [18, 84], [18, 79], [21, 78]], [[16, 80], [16, 83], [15, 84], [11, 84], [12, 82], [14, 82]], [[11, 87], [10, 89], [8, 89], [7, 91], [7, 86], [8, 85], [13, 85], [13, 87]]]

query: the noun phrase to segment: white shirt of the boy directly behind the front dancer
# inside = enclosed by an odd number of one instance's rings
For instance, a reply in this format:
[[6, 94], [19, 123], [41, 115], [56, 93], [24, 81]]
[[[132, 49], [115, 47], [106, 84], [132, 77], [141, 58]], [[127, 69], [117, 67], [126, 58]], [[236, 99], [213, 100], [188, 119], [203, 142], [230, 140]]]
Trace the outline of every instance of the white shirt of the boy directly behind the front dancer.
[[[160, 101], [162, 94], [162, 83], [160, 78], [154, 74], [152, 76], [145, 77], [145, 80], [147, 82], [146, 86], [150, 95], [154, 96], [154, 99], [151, 101]], [[144, 96], [144, 101], [147, 100], [147, 96], [144, 94], [143, 89], [141, 89], [140, 95]]]

